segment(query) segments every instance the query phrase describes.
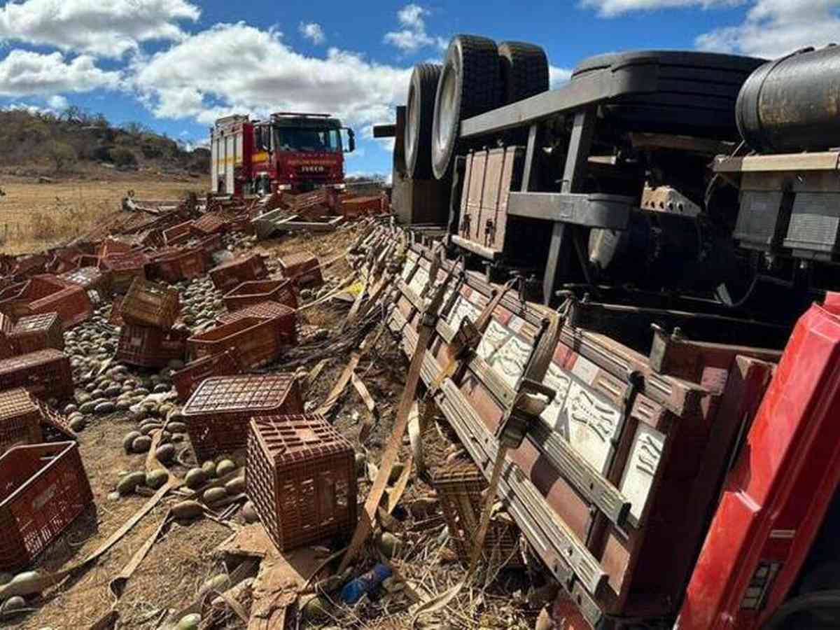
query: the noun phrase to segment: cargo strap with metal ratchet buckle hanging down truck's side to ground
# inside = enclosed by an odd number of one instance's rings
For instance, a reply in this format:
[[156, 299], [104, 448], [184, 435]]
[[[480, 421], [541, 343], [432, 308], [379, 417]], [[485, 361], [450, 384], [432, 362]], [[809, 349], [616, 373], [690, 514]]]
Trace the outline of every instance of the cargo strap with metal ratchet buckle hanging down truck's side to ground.
[[496, 492], [499, 489], [501, 470], [504, 468], [507, 451], [517, 449], [522, 444], [522, 439], [528, 431], [531, 423], [540, 422], [539, 415], [554, 401], [555, 392], [553, 389], [543, 385], [543, 378], [549, 370], [549, 364], [554, 357], [554, 349], [560, 336], [560, 329], [563, 328], [565, 317], [559, 312], [551, 312], [538, 333], [537, 342], [534, 344], [531, 355], [528, 357], [528, 364], [522, 376], [519, 378], [516, 388], [516, 395], [513, 402], [505, 412], [499, 428], [496, 432], [499, 437], [499, 449], [496, 453], [496, 460], [493, 462], [493, 470], [490, 476], [490, 483], [486, 490], [484, 504], [481, 507], [481, 517], [478, 531], [473, 538], [473, 548], [470, 553], [470, 564], [463, 580], [454, 585], [449, 591], [445, 591], [432, 600], [425, 601], [417, 607], [412, 617], [412, 627], [417, 622], [417, 617], [430, 612], [437, 612], [449, 606], [459, 592], [470, 581], [478, 563], [481, 559], [481, 551], [484, 548], [484, 540], [487, 536], [487, 529], [490, 527], [490, 518], [493, 505], [496, 502]]

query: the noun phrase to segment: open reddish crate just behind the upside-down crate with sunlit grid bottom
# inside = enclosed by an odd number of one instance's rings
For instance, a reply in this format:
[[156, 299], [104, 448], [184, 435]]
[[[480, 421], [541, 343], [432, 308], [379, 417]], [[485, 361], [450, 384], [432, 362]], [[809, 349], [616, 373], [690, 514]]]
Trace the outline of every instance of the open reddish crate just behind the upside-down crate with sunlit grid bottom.
[[201, 359], [224, 350], [239, 351], [244, 370], [252, 370], [280, 358], [289, 345], [278, 319], [241, 318], [199, 333], [187, 340], [191, 359]]

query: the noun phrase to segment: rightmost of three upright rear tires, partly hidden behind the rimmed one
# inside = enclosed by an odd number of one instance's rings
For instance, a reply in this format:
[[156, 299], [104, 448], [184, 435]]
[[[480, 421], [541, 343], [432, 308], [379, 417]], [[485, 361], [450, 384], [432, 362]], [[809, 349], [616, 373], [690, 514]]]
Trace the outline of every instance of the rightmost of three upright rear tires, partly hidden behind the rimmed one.
[[533, 97], [549, 89], [549, 58], [538, 45], [503, 41], [499, 45], [499, 105]]

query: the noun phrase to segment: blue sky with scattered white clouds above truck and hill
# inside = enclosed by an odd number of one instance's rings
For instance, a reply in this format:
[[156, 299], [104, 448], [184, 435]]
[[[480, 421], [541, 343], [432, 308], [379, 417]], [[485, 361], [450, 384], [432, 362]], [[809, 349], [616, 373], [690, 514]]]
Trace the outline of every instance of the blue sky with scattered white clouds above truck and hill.
[[0, 107], [73, 104], [191, 144], [221, 114], [327, 111], [360, 139], [348, 171], [386, 173], [390, 148], [370, 125], [456, 33], [543, 45], [556, 86], [606, 51], [773, 57], [840, 41], [840, 0], [16, 0], [0, 5]]

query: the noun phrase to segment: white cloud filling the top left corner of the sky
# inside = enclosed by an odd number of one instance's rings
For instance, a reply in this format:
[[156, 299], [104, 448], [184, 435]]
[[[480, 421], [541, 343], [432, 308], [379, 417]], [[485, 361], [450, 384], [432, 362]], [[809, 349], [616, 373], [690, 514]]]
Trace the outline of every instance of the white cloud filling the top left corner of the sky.
[[0, 8], [0, 42], [21, 41], [119, 57], [139, 42], [180, 40], [179, 21], [201, 10], [187, 0], [24, 0]]

